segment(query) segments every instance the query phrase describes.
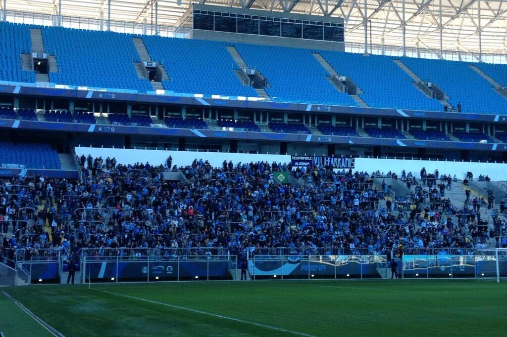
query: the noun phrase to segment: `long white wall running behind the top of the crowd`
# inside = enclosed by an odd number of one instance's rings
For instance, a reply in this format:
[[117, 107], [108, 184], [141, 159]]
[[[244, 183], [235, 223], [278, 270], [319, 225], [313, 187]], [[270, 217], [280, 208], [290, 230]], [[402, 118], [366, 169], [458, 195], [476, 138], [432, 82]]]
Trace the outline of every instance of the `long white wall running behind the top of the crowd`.
[[[216, 152], [194, 152], [194, 151], [162, 151], [162, 150], [133, 150], [133, 149], [111, 149], [111, 148], [90, 148], [76, 147], [76, 154], [84, 154], [93, 157], [102, 156], [116, 157], [118, 163], [135, 164], [136, 162], [149, 161], [151, 164], [165, 164], [167, 157], [172, 156], [173, 165], [188, 165], [194, 159], [209, 160], [213, 166], [220, 166], [224, 160], [232, 160], [234, 164], [238, 162], [250, 161], [268, 161], [268, 162], [289, 162], [291, 156], [276, 154], [246, 154], [246, 153], [216, 153]], [[298, 151], [303, 155], [303, 151]], [[313, 153], [308, 153], [313, 155]], [[507, 164], [501, 163], [481, 163], [481, 162], [461, 162], [461, 161], [435, 161], [435, 160], [410, 160], [410, 159], [374, 159], [374, 158], [356, 158], [355, 170], [372, 173], [380, 171], [387, 173], [389, 171], [401, 176], [402, 171], [412, 172], [417, 178], [421, 168], [425, 167], [426, 172], [434, 173], [439, 170], [440, 175], [456, 175], [458, 179], [463, 179], [467, 171], [474, 173], [478, 178], [479, 174], [488, 175], [491, 180], [499, 181], [507, 178]]]

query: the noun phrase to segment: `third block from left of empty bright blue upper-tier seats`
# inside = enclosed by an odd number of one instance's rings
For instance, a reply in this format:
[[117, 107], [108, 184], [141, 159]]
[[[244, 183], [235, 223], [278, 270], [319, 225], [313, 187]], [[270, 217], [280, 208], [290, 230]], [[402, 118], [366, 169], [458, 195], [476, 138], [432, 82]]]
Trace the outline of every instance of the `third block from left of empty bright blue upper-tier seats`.
[[225, 44], [216, 41], [143, 36], [148, 53], [162, 62], [170, 80], [164, 88], [177, 93], [257, 97], [234, 73]]

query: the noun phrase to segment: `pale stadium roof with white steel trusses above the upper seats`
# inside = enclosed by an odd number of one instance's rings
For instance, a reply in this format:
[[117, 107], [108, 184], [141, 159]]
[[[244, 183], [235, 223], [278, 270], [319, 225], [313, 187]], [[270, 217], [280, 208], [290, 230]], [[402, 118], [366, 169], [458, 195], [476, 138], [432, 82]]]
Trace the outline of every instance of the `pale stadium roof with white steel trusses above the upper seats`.
[[[61, 1], [61, 4], [59, 3]], [[0, 0], [3, 6], [4, 0]], [[6, 0], [8, 11], [107, 19], [108, 0]], [[156, 0], [111, 0], [111, 20], [155, 22]], [[201, 0], [200, 3], [331, 15], [345, 20], [349, 43], [505, 54], [507, 2], [484, 0]], [[191, 2], [158, 0], [158, 24], [178, 25]], [[365, 6], [366, 5], [366, 6]], [[367, 29], [365, 29], [365, 25]], [[371, 25], [371, 26], [370, 26]], [[442, 46], [441, 46], [442, 34]], [[480, 43], [481, 42], [481, 43]], [[357, 49], [364, 48], [357, 46]], [[428, 56], [426, 56], [428, 57]], [[505, 62], [505, 60], [500, 61]]]

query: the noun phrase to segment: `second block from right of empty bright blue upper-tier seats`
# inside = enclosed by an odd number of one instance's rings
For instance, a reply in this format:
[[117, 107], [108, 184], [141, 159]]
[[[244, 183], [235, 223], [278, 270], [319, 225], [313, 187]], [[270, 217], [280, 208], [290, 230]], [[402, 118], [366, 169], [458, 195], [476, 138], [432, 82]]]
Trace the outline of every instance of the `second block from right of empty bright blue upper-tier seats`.
[[465, 62], [403, 58], [403, 63], [440, 87], [453, 106], [461, 103], [462, 112], [507, 114], [507, 99]]

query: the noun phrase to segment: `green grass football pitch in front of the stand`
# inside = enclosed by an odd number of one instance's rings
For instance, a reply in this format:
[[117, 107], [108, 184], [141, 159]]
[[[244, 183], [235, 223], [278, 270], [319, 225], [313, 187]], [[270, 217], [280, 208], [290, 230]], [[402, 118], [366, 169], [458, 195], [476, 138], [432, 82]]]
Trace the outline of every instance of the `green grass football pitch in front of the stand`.
[[[507, 283], [244, 281], [4, 288], [65, 336], [507, 335]], [[0, 331], [51, 336], [3, 294]]]

